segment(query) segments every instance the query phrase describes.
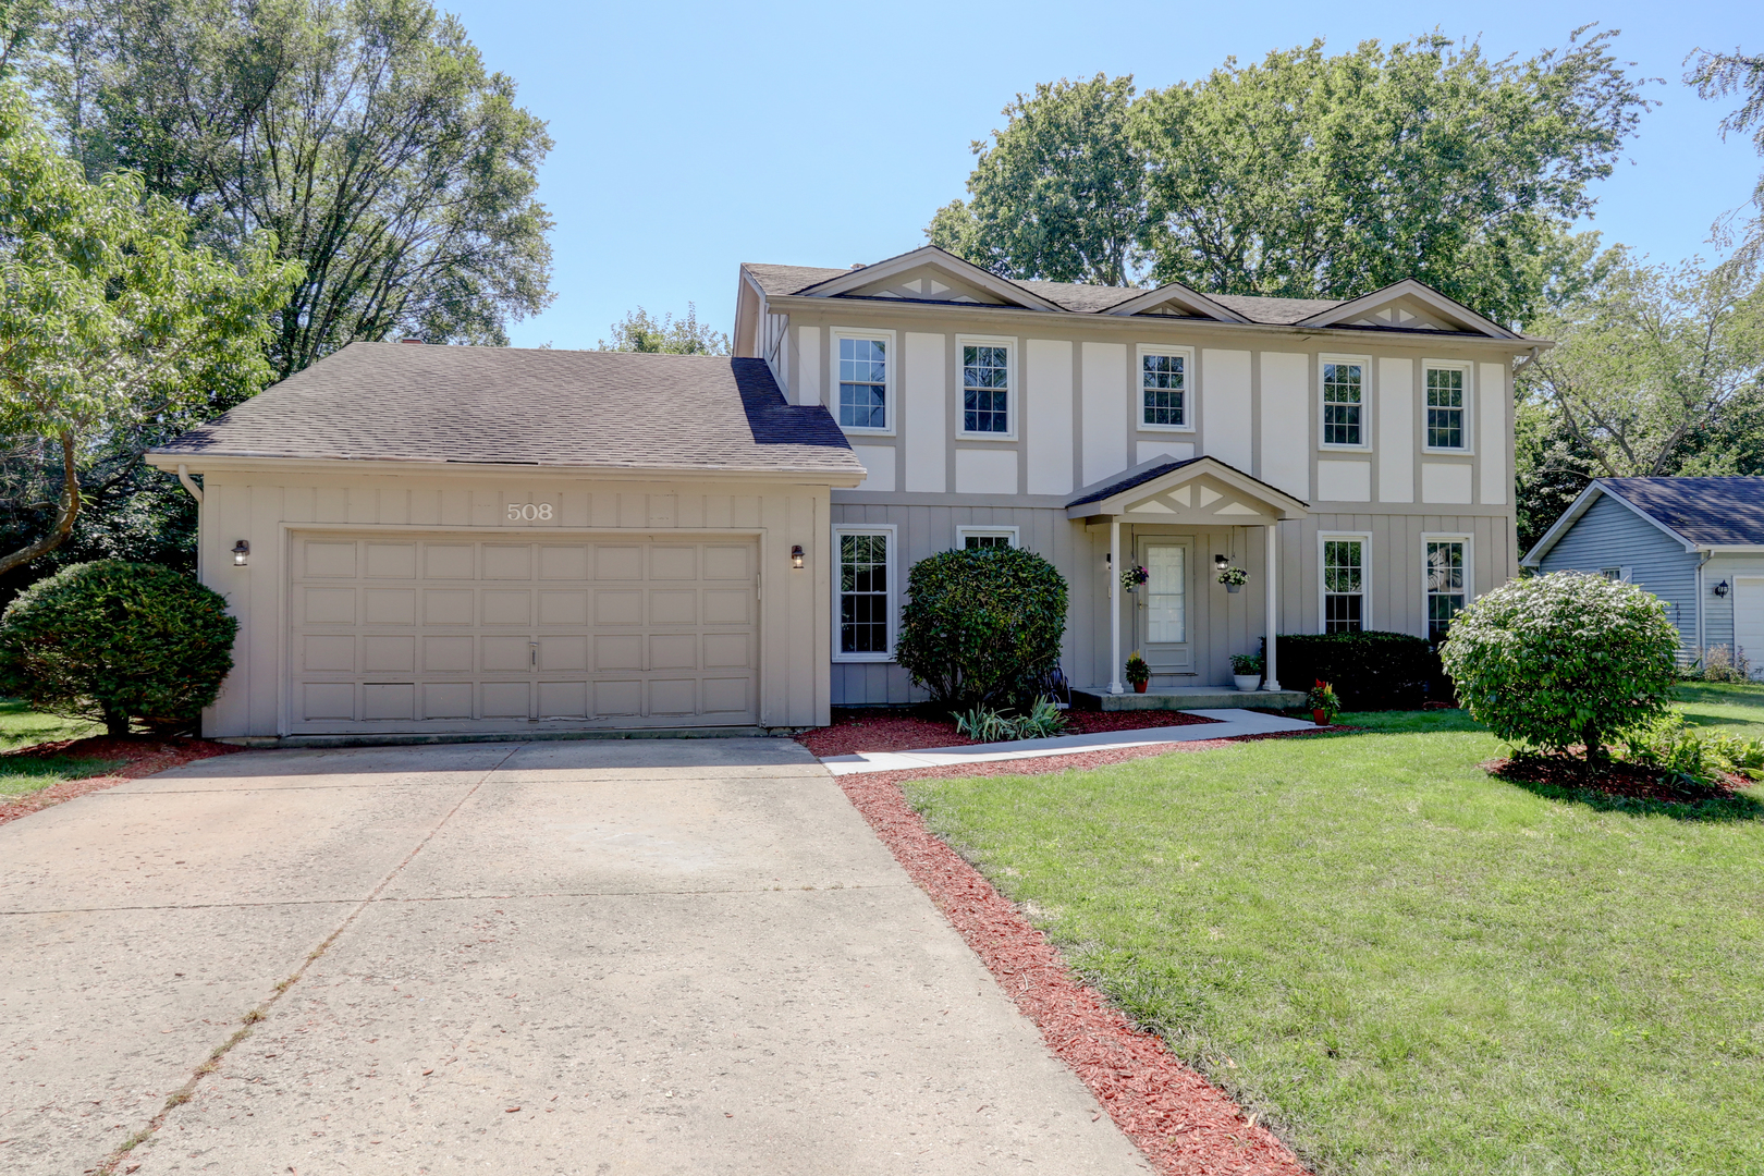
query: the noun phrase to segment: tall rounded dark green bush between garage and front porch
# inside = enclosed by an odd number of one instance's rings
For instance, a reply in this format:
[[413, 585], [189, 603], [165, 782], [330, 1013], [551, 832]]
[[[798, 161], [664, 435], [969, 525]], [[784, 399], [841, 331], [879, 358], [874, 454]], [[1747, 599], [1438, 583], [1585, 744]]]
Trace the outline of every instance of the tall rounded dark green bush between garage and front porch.
[[907, 573], [894, 659], [949, 711], [1021, 707], [1060, 659], [1065, 578], [1014, 547], [938, 552]]

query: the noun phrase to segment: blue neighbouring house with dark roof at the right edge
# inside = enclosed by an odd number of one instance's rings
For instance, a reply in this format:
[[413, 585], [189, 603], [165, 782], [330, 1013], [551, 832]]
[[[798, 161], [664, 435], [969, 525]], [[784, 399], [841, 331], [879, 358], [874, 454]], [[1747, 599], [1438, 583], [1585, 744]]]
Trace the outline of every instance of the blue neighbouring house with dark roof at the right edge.
[[1519, 564], [1639, 584], [1685, 661], [1725, 645], [1764, 672], [1764, 478], [1600, 478]]

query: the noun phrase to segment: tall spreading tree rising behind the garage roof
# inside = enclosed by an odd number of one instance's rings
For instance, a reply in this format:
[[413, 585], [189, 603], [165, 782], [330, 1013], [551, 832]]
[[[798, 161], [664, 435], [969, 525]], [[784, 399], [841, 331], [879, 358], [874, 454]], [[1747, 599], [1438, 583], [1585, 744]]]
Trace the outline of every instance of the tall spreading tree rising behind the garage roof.
[[506, 346], [550, 300], [545, 125], [427, 0], [83, 0], [34, 76], [90, 175], [302, 263], [277, 377], [356, 339]]

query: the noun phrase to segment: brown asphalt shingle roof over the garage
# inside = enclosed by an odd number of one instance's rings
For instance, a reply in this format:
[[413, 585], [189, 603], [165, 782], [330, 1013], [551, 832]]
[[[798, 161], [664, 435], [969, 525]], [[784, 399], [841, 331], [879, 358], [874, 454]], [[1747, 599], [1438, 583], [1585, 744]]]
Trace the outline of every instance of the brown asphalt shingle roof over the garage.
[[362, 342], [155, 453], [863, 474], [764, 360]]

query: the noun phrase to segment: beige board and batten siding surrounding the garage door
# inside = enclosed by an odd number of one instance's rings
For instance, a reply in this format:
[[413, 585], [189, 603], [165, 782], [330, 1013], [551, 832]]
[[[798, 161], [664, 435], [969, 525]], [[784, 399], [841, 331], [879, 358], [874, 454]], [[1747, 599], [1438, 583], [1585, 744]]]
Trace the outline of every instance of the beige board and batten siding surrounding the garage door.
[[[288, 543], [302, 529], [545, 536], [744, 534], [759, 541], [760, 725], [829, 721], [831, 605], [826, 487], [771, 481], [610, 481], [210, 471], [203, 478], [199, 575], [240, 622], [240, 658], [203, 718], [212, 737], [286, 726]], [[510, 502], [550, 504], [550, 520], [510, 520]], [[245, 568], [231, 548], [250, 543]], [[790, 547], [803, 545], [803, 569]]]

